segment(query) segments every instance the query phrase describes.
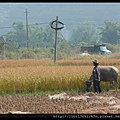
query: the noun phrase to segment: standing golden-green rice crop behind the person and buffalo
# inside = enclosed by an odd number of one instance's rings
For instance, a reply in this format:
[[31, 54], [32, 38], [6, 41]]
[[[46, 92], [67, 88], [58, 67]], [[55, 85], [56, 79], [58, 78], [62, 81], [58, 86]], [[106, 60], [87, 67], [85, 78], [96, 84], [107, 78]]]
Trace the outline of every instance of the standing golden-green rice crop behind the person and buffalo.
[[[100, 59], [99, 65], [120, 70], [120, 59]], [[85, 91], [92, 60], [0, 60], [0, 94]], [[119, 78], [120, 81], [120, 78]], [[108, 83], [101, 83], [106, 89]]]

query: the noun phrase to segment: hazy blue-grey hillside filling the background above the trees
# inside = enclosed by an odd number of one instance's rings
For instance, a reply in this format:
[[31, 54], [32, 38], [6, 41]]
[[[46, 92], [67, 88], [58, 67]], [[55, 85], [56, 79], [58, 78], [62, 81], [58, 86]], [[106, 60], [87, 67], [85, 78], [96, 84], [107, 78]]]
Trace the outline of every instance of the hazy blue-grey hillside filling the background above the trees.
[[83, 21], [95, 21], [103, 25], [105, 20], [120, 21], [119, 3], [0, 3], [0, 35], [11, 28], [13, 22], [26, 20], [25, 9], [28, 10], [28, 23], [49, 24], [58, 16], [66, 25], [63, 31], [68, 38], [74, 25]]

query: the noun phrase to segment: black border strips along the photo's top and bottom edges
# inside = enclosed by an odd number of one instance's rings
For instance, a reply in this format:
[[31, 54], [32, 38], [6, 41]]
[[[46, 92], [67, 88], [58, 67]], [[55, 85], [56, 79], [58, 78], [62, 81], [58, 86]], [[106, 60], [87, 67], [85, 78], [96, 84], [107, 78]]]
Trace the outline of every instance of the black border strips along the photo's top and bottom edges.
[[[31, 2], [31, 1], [7, 1], [7, 0], [4, 0], [4, 1], [0, 1], [0, 3], [10, 3], [10, 2], [13, 2], [13, 3], [119, 3], [118, 1], [94, 1], [94, 0], [91, 0], [91, 1], [85, 1], [85, 0], [74, 0], [74, 2], [71, 2], [71, 1], [66, 1], [66, 0], [60, 0], [60, 1], [38, 1], [38, 0], [34, 0], [34, 2]], [[13, 119], [13, 118], [50, 118], [50, 119], [67, 119], [67, 118], [120, 118], [120, 114], [0, 114], [0, 119]]]

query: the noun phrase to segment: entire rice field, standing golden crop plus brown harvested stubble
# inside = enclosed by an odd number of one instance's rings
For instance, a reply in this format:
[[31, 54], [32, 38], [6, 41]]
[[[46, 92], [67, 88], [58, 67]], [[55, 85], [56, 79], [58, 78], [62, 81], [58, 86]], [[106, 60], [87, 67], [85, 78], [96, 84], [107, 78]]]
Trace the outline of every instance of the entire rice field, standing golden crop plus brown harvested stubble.
[[[99, 64], [120, 70], [119, 59], [100, 59]], [[52, 60], [0, 60], [0, 114], [119, 114], [120, 92], [85, 92], [92, 68], [90, 59], [56, 64]], [[101, 83], [103, 90], [108, 85]]]

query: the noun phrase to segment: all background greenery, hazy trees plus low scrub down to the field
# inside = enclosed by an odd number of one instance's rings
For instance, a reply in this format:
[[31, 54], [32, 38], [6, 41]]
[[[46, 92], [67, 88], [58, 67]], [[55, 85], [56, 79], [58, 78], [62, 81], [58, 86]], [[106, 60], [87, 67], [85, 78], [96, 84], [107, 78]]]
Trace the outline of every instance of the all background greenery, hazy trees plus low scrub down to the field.
[[[57, 34], [57, 59], [87, 59], [89, 56], [81, 56], [81, 46], [106, 43], [112, 53], [120, 51], [120, 25], [118, 22], [105, 21], [105, 26], [98, 26], [95, 22], [81, 22], [73, 29], [71, 38], [65, 40], [62, 32]], [[101, 34], [100, 34], [101, 33]], [[28, 26], [27, 49], [26, 25], [23, 21], [13, 23], [13, 29], [5, 34], [4, 57], [0, 59], [53, 59], [55, 48], [55, 30], [50, 25], [42, 28], [39, 24]], [[92, 57], [92, 56], [91, 56]]]

